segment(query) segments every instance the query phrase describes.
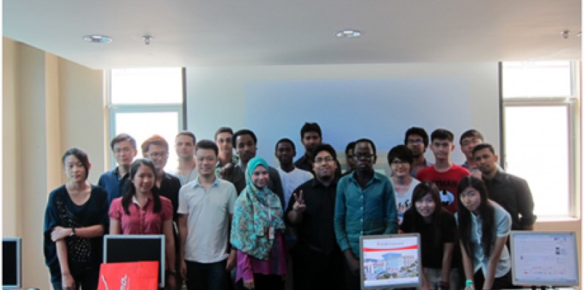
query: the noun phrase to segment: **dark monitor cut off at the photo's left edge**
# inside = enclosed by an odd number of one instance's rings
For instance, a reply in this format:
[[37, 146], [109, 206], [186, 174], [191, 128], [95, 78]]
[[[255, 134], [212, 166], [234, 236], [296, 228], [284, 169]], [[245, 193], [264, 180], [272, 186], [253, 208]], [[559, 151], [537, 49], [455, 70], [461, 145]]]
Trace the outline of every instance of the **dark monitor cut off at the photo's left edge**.
[[2, 289], [21, 289], [21, 262], [21, 238], [2, 238]]

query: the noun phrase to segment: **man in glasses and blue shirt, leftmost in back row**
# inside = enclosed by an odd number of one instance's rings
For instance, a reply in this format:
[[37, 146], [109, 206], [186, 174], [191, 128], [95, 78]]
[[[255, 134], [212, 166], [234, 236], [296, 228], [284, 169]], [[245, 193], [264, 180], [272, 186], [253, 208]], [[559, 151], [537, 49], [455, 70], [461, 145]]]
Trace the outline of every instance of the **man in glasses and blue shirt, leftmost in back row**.
[[136, 150], [136, 139], [122, 133], [114, 137], [110, 142], [113, 151], [113, 158], [118, 166], [113, 170], [103, 173], [98, 180], [98, 185], [108, 192], [108, 204], [112, 200], [122, 196], [125, 181], [130, 176], [130, 166], [138, 151]]

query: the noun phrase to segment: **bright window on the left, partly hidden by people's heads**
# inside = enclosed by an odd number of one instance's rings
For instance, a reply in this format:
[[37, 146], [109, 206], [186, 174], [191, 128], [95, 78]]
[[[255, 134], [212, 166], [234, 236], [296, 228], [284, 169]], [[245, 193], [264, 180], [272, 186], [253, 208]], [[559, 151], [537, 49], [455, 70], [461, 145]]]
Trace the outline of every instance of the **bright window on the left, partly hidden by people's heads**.
[[[174, 138], [183, 127], [183, 71], [171, 69], [112, 69], [110, 71], [109, 139], [120, 133], [130, 134], [140, 144], [159, 134], [168, 141], [165, 170], [178, 166]], [[110, 166], [115, 159], [110, 151]]]

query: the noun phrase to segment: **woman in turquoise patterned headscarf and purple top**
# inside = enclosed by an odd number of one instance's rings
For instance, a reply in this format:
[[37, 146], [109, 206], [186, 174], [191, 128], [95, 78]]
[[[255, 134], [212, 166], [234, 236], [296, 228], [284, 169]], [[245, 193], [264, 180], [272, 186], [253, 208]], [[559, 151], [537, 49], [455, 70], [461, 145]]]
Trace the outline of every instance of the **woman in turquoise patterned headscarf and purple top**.
[[268, 168], [263, 158], [248, 162], [246, 188], [234, 206], [231, 245], [237, 249], [236, 282], [246, 289], [284, 289], [285, 226], [280, 198], [266, 186]]

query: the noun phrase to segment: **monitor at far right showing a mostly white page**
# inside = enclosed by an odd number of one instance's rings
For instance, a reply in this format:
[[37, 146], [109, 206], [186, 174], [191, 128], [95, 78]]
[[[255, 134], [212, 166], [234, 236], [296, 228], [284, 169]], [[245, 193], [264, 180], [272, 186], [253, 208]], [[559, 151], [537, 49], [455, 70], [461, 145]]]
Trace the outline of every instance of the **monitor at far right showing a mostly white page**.
[[514, 285], [577, 286], [576, 233], [511, 231]]

